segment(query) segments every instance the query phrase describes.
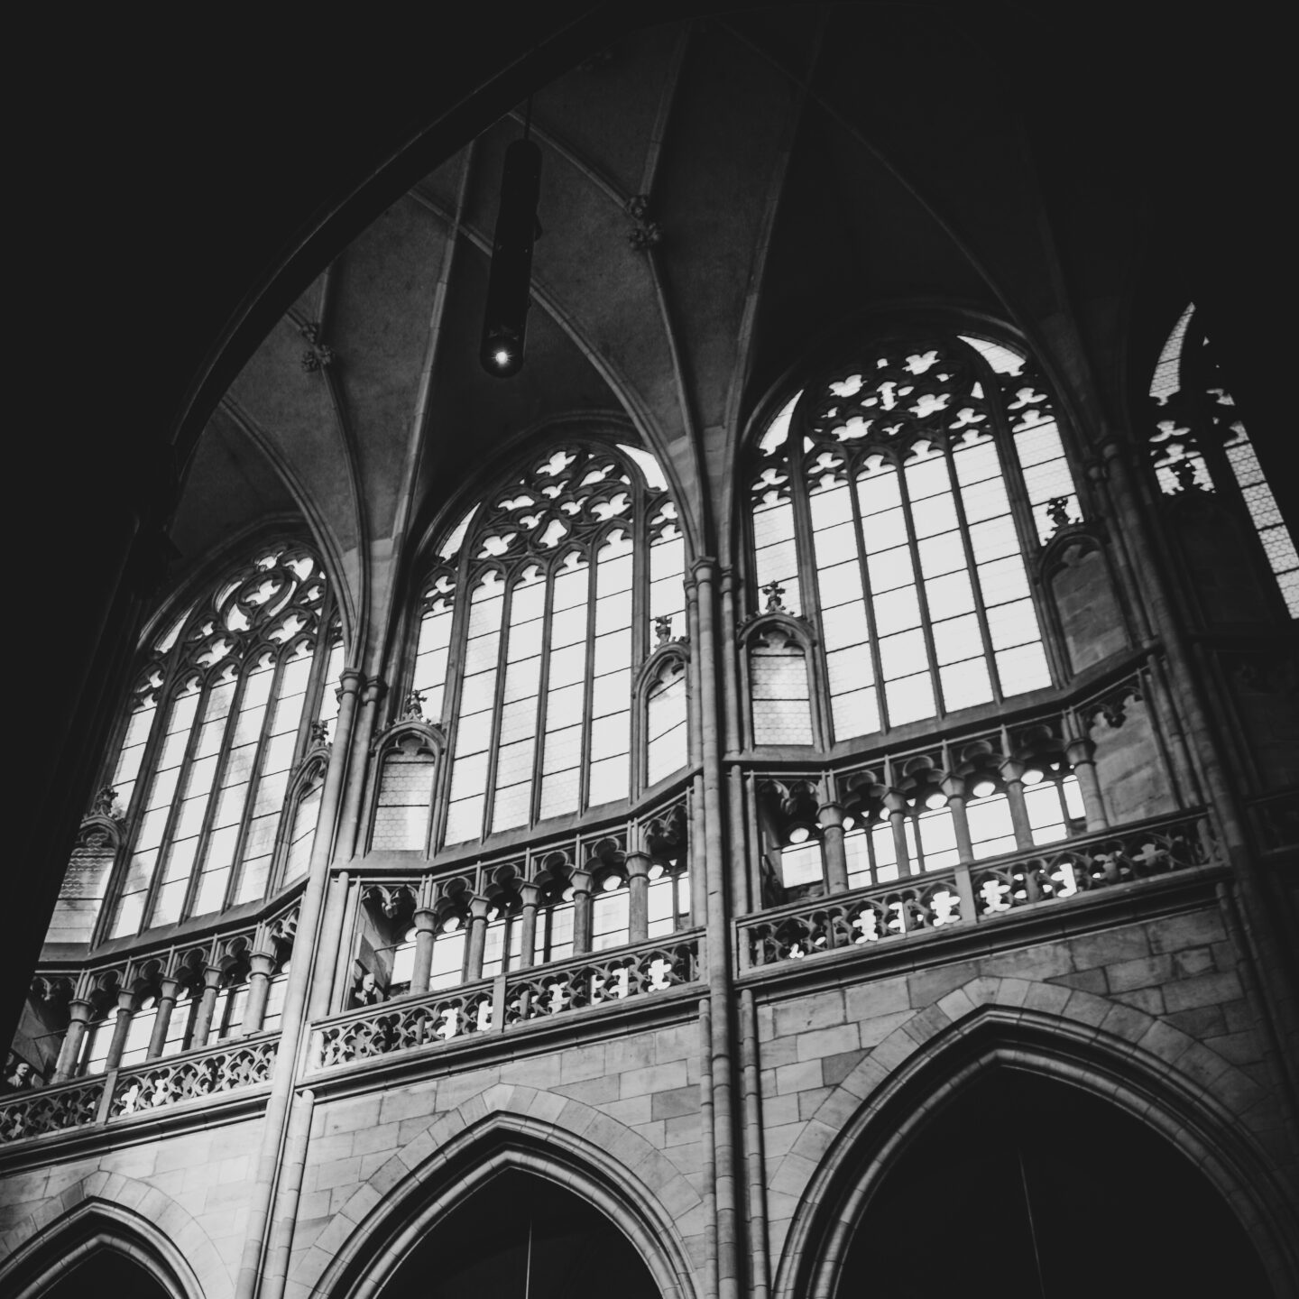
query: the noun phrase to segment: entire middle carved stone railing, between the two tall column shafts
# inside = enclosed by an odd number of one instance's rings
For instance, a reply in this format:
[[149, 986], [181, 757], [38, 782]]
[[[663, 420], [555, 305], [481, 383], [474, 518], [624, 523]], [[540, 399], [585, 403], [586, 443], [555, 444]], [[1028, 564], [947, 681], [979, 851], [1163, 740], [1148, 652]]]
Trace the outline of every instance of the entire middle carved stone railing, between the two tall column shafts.
[[699, 944], [698, 930], [672, 934], [331, 1016], [313, 1026], [312, 1068], [482, 1038], [694, 983], [700, 977]]

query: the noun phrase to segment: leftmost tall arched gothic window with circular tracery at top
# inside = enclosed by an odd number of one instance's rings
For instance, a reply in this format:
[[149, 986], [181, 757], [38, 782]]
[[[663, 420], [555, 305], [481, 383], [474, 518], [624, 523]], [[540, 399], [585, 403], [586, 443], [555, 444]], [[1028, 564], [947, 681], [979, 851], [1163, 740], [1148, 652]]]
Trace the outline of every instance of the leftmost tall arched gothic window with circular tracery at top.
[[125, 830], [101, 937], [256, 902], [277, 853], [301, 877], [320, 782], [295, 772], [329, 738], [342, 666], [325, 572], [295, 542], [227, 569], [147, 646], [105, 770]]

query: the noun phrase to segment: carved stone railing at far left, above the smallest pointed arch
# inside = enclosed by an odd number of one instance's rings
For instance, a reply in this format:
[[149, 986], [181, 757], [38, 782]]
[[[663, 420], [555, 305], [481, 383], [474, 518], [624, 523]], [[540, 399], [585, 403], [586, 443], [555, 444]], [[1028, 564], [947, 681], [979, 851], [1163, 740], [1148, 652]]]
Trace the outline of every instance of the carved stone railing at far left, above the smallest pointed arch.
[[56, 1087], [0, 1096], [0, 1143], [112, 1122], [129, 1115], [160, 1113], [270, 1082], [279, 1034], [220, 1042], [201, 1051], [110, 1069]]

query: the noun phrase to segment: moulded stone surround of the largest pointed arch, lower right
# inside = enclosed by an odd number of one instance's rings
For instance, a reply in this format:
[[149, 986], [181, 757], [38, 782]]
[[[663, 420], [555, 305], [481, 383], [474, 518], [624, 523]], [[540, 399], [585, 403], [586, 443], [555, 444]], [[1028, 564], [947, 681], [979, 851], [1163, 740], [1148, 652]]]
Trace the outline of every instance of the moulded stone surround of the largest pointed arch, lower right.
[[[905, 1047], [899, 1053], [905, 1060], [886, 1070], [866, 1056], [843, 1079], [842, 1091], [822, 1103], [825, 1113], [813, 1116], [791, 1148], [795, 1157], [817, 1161], [785, 1238], [773, 1295], [834, 1294], [853, 1233], [886, 1176], [920, 1133], [995, 1066], [1077, 1087], [1169, 1142], [1230, 1207], [1276, 1293], [1290, 1293], [1299, 1278], [1299, 1255], [1285, 1224], [1294, 1220], [1295, 1207], [1254, 1143], [1241, 1135], [1238, 1116], [1160, 1059], [1151, 1030], [1165, 1026], [1143, 1012], [1081, 994], [1089, 1005], [1122, 1012], [1109, 1033], [1094, 1026], [1099, 1018], [1081, 1022], [1030, 1009], [1017, 991], [1026, 991], [1018, 979], [970, 981], [939, 1007], [944, 1017], [951, 1007], [959, 1016], [953, 1022], [934, 1029], [924, 1046], [899, 1026], [874, 1053], [889, 1057], [892, 1039], [902, 1035]], [[1190, 1050], [1212, 1055], [1200, 1044]], [[834, 1111], [842, 1117], [844, 1109], [851, 1111], [847, 1121], [831, 1126]]]

